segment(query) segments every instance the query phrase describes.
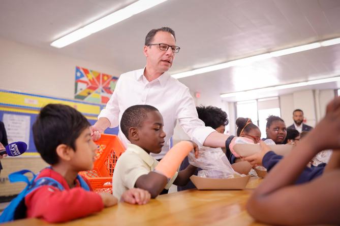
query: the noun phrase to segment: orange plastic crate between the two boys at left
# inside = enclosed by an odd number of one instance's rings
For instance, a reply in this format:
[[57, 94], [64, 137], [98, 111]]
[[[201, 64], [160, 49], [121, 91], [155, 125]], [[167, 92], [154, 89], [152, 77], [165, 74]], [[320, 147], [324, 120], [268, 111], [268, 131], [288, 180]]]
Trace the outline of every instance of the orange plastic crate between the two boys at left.
[[98, 149], [94, 168], [82, 171], [80, 175], [87, 178], [95, 192], [112, 193], [113, 170], [118, 158], [125, 152], [125, 147], [116, 135], [110, 134], [102, 134], [96, 144], [98, 144]]

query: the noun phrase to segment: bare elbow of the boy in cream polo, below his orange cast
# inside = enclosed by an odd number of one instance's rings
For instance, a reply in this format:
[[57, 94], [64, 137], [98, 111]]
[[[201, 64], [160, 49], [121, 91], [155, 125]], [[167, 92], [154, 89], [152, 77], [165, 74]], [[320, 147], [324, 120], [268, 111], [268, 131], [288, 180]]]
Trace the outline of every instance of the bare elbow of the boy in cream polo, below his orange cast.
[[162, 192], [167, 183], [168, 179], [166, 176], [157, 172], [149, 172], [138, 177], [135, 187], [148, 191], [151, 198], [154, 199]]

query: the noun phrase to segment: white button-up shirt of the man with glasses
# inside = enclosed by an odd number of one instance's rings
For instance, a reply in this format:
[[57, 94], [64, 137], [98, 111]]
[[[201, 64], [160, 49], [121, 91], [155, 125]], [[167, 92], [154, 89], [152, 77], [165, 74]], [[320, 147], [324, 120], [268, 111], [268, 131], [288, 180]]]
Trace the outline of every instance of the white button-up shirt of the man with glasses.
[[[162, 152], [158, 155], [151, 154], [156, 159], [162, 159], [168, 152], [177, 120], [184, 132], [195, 137], [201, 144], [210, 133], [216, 132], [211, 127], [205, 127], [203, 121], [198, 119], [188, 87], [172, 78], [168, 72], [151, 82], [147, 81], [143, 73], [144, 68], [120, 75], [115, 90], [98, 119], [107, 118], [111, 123], [110, 128], [113, 128], [119, 125], [123, 112], [130, 106], [148, 104], [156, 107], [163, 116], [166, 133]], [[130, 143], [120, 128], [118, 137], [125, 145]]]

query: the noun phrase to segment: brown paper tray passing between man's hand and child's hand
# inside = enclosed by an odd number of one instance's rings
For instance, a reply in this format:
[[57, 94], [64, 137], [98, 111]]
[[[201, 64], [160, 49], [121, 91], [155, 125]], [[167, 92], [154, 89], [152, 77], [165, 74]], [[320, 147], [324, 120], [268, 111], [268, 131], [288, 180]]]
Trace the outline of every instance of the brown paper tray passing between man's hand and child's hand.
[[[277, 144], [268, 146], [274, 153], [281, 156], [287, 155], [293, 147], [293, 145], [290, 144]], [[234, 150], [238, 155], [242, 157], [247, 157], [260, 152], [260, 145], [250, 143], [237, 143], [234, 145]]]

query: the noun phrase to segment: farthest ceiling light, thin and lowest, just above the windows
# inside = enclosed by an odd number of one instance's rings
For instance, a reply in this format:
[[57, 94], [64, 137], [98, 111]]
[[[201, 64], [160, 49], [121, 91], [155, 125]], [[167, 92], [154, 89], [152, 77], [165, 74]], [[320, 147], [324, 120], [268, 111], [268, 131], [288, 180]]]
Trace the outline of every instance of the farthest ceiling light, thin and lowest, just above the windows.
[[296, 88], [296, 87], [302, 87], [302, 86], [310, 86], [310, 85], [337, 82], [337, 81], [340, 81], [340, 76], [332, 77], [332, 78], [326, 78], [326, 79], [312, 80], [312, 81], [301, 82], [301, 83], [292, 83], [292, 84], [286, 84], [286, 85], [280, 85], [280, 86], [271, 86], [271, 87], [265, 87], [265, 88], [254, 89], [254, 90], [245, 90], [245, 91], [234, 92], [234, 93], [225, 93], [225, 94], [221, 94], [220, 97], [234, 97], [234, 96], [238, 96], [238, 95], [254, 95], [256, 93], [263, 93], [263, 92], [268, 92], [268, 91], [283, 90], [283, 89]]

